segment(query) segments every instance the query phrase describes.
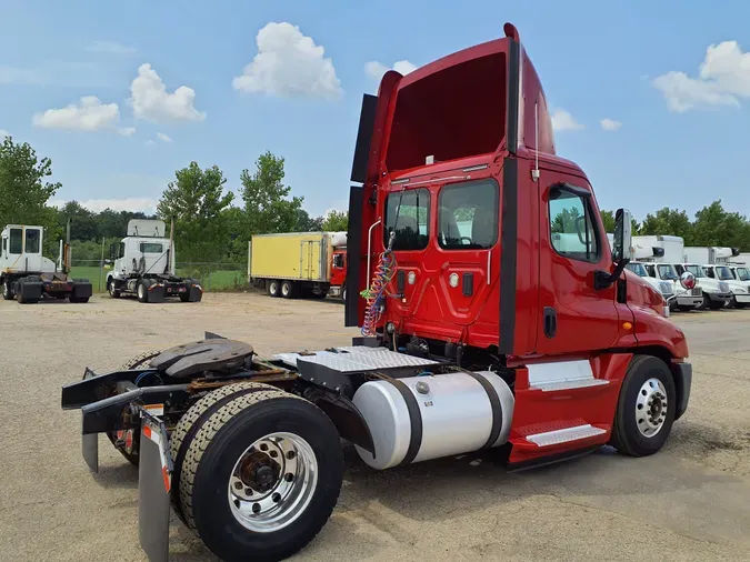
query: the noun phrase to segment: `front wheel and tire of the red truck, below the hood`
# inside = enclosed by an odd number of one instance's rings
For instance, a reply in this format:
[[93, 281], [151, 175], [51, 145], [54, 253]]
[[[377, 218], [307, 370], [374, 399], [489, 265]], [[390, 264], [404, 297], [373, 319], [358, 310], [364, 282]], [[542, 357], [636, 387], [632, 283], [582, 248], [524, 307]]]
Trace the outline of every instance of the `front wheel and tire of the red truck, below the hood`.
[[622, 381], [610, 444], [629, 456], [647, 456], [667, 442], [674, 422], [677, 392], [667, 364], [633, 355]]

